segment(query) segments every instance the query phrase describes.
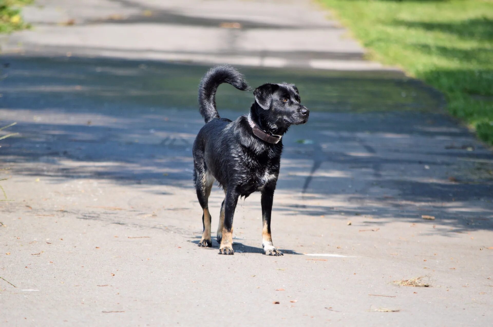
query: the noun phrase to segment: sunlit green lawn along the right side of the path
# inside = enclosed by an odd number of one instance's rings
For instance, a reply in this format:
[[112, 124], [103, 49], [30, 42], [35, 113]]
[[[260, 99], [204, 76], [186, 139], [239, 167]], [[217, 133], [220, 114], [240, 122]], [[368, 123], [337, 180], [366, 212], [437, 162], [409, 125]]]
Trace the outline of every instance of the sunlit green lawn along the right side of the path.
[[493, 144], [492, 0], [318, 0], [369, 49], [442, 91], [452, 115]]

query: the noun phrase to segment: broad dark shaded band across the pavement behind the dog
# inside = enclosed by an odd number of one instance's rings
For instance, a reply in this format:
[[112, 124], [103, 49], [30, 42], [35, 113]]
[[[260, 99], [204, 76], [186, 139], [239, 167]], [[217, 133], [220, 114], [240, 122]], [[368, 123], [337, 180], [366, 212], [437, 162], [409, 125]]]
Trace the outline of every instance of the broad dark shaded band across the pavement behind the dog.
[[[5, 124], [18, 122], [11, 132], [21, 133], [0, 144], [13, 173], [51, 183], [96, 179], [158, 185], [160, 193], [168, 186], [193, 190], [191, 146], [204, 124], [197, 84], [208, 67], [35, 57], [2, 63], [10, 66], [0, 82], [0, 115]], [[376, 224], [422, 222], [429, 214], [456, 231], [493, 229], [493, 156], [437, 110], [435, 91], [381, 72], [241, 70], [252, 86], [297, 83], [312, 109], [309, 123], [283, 138], [278, 192], [291, 201], [276, 201], [274, 210], [371, 215]], [[235, 119], [252, 100], [221, 86], [219, 113]]]

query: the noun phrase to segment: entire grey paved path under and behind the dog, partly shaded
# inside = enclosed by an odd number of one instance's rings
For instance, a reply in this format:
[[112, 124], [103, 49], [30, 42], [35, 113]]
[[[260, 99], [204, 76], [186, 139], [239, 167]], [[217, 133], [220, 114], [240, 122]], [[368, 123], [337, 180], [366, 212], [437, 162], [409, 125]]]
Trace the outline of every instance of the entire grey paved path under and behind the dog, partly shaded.
[[[35, 29], [2, 40], [11, 52], [0, 58], [0, 125], [18, 124], [1, 133], [20, 133], [0, 140], [0, 164], [11, 167], [1, 186], [15, 200], [0, 204], [3, 325], [491, 324], [493, 156], [442, 114], [436, 91], [362, 61], [345, 31], [302, 1], [294, 10], [275, 1], [79, 2], [27, 10]], [[284, 26], [280, 12], [302, 20]], [[73, 26], [56, 24], [72, 17]], [[235, 22], [240, 29], [218, 27]], [[307, 38], [307, 25], [331, 42]], [[134, 28], [148, 33], [127, 36]], [[172, 29], [171, 39], [159, 32]], [[231, 30], [238, 52], [221, 57]], [[311, 52], [297, 52], [286, 30]], [[210, 34], [187, 38], [200, 31]], [[173, 45], [180, 39], [193, 49]], [[206, 39], [215, 42], [209, 54], [190, 57]], [[167, 46], [176, 57], [153, 57]], [[241, 62], [247, 46], [258, 49]], [[211, 63], [230, 59], [249, 64], [240, 69], [252, 86], [296, 83], [312, 109], [283, 139], [273, 212], [283, 257], [262, 255], [257, 195], [239, 203], [234, 256], [217, 255], [215, 241], [196, 246], [196, 87]], [[314, 60], [338, 69], [314, 70]], [[219, 89], [223, 117], [251, 101]], [[214, 189], [213, 224], [221, 200]], [[431, 287], [393, 283], [420, 276]]]

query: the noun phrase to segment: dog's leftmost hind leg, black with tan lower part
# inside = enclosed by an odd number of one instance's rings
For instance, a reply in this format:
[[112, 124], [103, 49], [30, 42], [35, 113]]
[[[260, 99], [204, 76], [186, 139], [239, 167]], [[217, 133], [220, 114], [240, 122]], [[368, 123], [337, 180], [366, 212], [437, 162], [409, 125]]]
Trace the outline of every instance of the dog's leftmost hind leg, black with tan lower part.
[[209, 213], [209, 196], [211, 195], [212, 184], [214, 177], [207, 171], [199, 172], [196, 170], [196, 191], [200, 206], [204, 211], [202, 214], [202, 225], [204, 231], [200, 239], [199, 246], [212, 247], [211, 240], [211, 214]]

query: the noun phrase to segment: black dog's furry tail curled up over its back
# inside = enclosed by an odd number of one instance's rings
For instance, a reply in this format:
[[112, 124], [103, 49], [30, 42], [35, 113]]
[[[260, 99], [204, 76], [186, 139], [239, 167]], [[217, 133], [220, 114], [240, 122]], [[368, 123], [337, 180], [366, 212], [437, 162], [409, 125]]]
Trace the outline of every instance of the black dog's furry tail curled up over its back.
[[229, 65], [214, 66], [202, 77], [199, 85], [199, 110], [206, 123], [219, 118], [215, 106], [215, 93], [221, 83], [229, 83], [238, 90], [248, 90], [245, 77]]

